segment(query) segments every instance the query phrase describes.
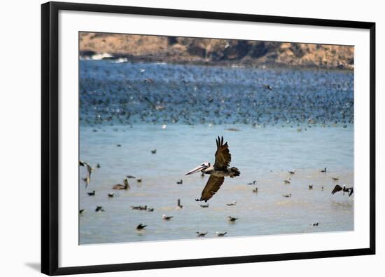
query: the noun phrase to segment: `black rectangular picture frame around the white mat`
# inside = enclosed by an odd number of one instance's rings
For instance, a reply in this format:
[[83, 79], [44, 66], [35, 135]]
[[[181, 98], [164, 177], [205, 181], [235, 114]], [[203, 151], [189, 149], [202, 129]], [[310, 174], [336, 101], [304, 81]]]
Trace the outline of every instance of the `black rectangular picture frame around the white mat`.
[[[100, 264], [94, 266], [59, 267], [59, 95], [58, 95], [58, 13], [60, 10], [132, 15], [158, 15], [179, 18], [268, 22], [289, 25], [313, 25], [370, 30], [370, 247], [349, 250], [293, 252], [242, 257], [183, 259], [162, 262]], [[41, 6], [41, 272], [48, 275], [164, 269], [172, 267], [241, 264], [293, 259], [315, 259], [375, 254], [375, 23], [314, 18], [290, 18], [269, 15], [182, 11], [163, 8], [110, 6], [48, 2]]]

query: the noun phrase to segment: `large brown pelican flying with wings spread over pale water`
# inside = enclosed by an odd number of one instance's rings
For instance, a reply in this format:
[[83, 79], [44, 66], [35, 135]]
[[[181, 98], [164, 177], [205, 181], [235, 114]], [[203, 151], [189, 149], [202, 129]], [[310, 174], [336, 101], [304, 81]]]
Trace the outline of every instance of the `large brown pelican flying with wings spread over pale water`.
[[194, 168], [186, 175], [190, 175], [197, 172], [202, 172], [204, 174], [209, 174], [209, 180], [207, 181], [206, 186], [202, 191], [202, 196], [196, 201], [207, 202], [211, 197], [216, 194], [216, 191], [221, 187], [225, 181], [225, 176], [230, 178], [237, 177], [241, 173], [238, 168], [229, 168], [231, 161], [231, 154], [228, 147], [228, 142], [223, 144], [223, 137], [216, 139], [216, 154], [215, 154], [215, 163], [211, 165], [209, 162], [202, 163], [197, 168]]

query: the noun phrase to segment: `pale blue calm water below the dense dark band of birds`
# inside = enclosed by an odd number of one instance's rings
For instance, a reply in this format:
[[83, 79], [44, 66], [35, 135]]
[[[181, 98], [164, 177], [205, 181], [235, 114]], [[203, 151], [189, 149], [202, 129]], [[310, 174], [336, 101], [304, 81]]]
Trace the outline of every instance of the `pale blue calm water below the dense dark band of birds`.
[[[234, 126], [233, 126], [234, 127]], [[353, 184], [353, 128], [260, 128], [237, 126], [161, 126], [138, 125], [133, 128], [104, 127], [80, 129], [80, 158], [92, 165], [100, 163], [85, 189], [80, 180], [80, 243], [112, 243], [195, 238], [196, 231], [228, 231], [228, 236], [292, 234], [312, 231], [353, 229], [353, 197], [330, 191], [339, 176], [339, 184]], [[195, 198], [207, 182], [200, 174], [184, 176], [203, 161], [214, 162], [215, 136], [229, 142], [232, 165], [241, 176], [227, 178], [218, 193], [201, 208]], [[121, 147], [117, 147], [121, 144]], [[157, 149], [151, 154], [151, 149]], [[328, 172], [320, 173], [320, 168]], [[295, 168], [291, 184], [283, 184], [288, 170]], [[85, 176], [80, 168], [80, 177]], [[131, 189], [116, 191], [125, 175]], [[183, 180], [183, 184], [176, 181]], [[256, 185], [249, 182], [258, 180]], [[308, 185], [314, 189], [309, 190]], [[324, 190], [321, 190], [321, 187]], [[258, 187], [258, 194], [252, 189]], [[87, 196], [86, 191], [96, 191]], [[284, 198], [283, 194], [292, 194]], [[183, 209], [176, 209], [177, 199]], [[226, 203], [237, 201], [235, 206]], [[94, 212], [102, 205], [105, 212]], [[131, 205], [148, 205], [153, 212], [131, 210]], [[162, 215], [172, 215], [169, 222]], [[227, 217], [239, 217], [229, 224]], [[311, 227], [319, 222], [318, 227]], [[137, 232], [139, 224], [148, 224]]]

